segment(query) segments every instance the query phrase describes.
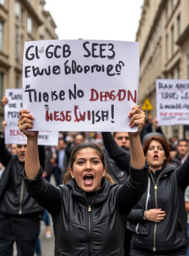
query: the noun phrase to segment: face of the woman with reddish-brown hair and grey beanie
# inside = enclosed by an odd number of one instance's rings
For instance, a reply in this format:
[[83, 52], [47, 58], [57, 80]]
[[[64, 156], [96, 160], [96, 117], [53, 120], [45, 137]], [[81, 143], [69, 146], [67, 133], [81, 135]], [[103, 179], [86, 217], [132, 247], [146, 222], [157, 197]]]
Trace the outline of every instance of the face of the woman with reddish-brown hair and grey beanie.
[[149, 168], [161, 169], [166, 159], [165, 151], [162, 144], [157, 140], [152, 140], [149, 144], [146, 159], [149, 163]]

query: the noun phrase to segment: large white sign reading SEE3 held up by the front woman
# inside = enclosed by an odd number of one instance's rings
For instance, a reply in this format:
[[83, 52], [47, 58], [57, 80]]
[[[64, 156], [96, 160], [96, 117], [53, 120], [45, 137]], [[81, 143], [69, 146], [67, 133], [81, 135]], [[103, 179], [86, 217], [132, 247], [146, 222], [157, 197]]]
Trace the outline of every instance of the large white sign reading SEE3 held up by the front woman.
[[25, 43], [23, 108], [34, 116], [33, 130], [129, 132], [138, 84], [137, 42]]

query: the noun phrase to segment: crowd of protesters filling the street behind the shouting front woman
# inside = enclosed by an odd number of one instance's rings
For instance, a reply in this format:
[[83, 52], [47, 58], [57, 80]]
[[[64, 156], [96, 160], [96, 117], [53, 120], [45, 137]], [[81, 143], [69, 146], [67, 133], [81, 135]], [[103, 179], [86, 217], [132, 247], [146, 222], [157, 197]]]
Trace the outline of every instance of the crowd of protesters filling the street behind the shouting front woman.
[[[2, 102], [7, 103], [5, 98]], [[50, 214], [53, 217], [54, 215], [51, 208], [39, 199], [37, 200], [35, 196], [32, 196], [34, 197], [32, 199], [28, 194], [28, 191], [33, 193], [29, 186], [33, 178], [23, 179], [22, 173], [25, 162], [29, 161], [33, 152], [30, 150], [30, 155], [26, 157], [26, 145], [5, 145], [5, 125], [6, 123], [3, 122], [0, 133], [0, 255], [12, 256], [15, 241], [18, 256], [33, 256], [34, 251], [37, 255], [42, 255], [39, 239], [40, 221], [45, 221], [45, 236], [50, 239], [52, 234], [49, 228], [49, 218], [51, 218]], [[108, 175], [111, 176], [113, 182], [124, 186], [132, 173], [130, 164], [130, 142], [132, 140], [129, 136], [128, 132], [59, 132], [57, 147], [38, 146], [39, 163], [43, 170], [42, 177], [50, 182], [51, 176], [54, 175], [57, 186], [63, 183], [67, 186], [64, 178], [72, 161], [72, 152], [79, 145], [91, 142], [92, 144], [86, 144], [87, 148], [92, 148], [93, 143], [102, 148]], [[166, 140], [157, 120], [152, 116], [146, 118], [140, 132], [140, 141], [149, 164], [147, 189], [142, 193], [143, 195], [141, 194], [139, 202], [133, 205], [132, 210], [130, 209], [129, 212], [125, 210], [127, 220], [126, 228], [123, 224], [125, 237], [116, 255], [189, 256], [189, 141], [185, 138], [179, 140], [177, 136]], [[38, 186], [38, 183], [31, 184]], [[94, 193], [91, 198], [87, 195], [87, 200], [92, 204], [94, 198]], [[63, 227], [61, 227], [61, 232], [64, 233]], [[78, 246], [75, 237], [74, 239]], [[125, 254], [121, 251], [123, 244]], [[74, 248], [74, 241], [70, 246]], [[109, 244], [106, 246], [108, 247]], [[56, 239], [55, 247], [60, 252]], [[75, 250], [75, 254], [72, 255], [81, 254]], [[95, 249], [90, 252], [90, 255], [97, 255]], [[108, 256], [110, 253], [103, 255]]]

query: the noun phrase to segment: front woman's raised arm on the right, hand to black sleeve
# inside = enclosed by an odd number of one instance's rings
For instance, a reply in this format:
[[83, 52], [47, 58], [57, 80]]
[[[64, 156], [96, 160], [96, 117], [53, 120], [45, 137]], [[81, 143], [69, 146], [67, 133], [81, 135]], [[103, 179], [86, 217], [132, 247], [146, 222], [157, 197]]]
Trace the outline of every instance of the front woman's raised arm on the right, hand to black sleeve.
[[140, 142], [140, 132], [145, 122], [145, 113], [135, 106], [130, 112], [130, 127], [138, 125], [137, 132], [129, 132], [131, 147], [130, 176], [125, 183], [117, 189], [117, 201], [120, 210], [128, 215], [132, 208], [138, 204], [148, 185], [148, 164]]

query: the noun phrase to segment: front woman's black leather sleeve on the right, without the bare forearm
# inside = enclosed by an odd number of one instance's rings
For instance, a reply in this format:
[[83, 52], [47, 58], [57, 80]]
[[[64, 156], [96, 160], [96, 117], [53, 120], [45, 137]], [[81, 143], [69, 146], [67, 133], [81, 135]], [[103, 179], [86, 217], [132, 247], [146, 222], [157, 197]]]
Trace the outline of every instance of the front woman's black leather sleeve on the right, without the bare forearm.
[[123, 185], [117, 188], [117, 202], [120, 211], [128, 216], [132, 208], [136, 206], [148, 185], [148, 163], [143, 169], [135, 169], [129, 166], [130, 175]]

